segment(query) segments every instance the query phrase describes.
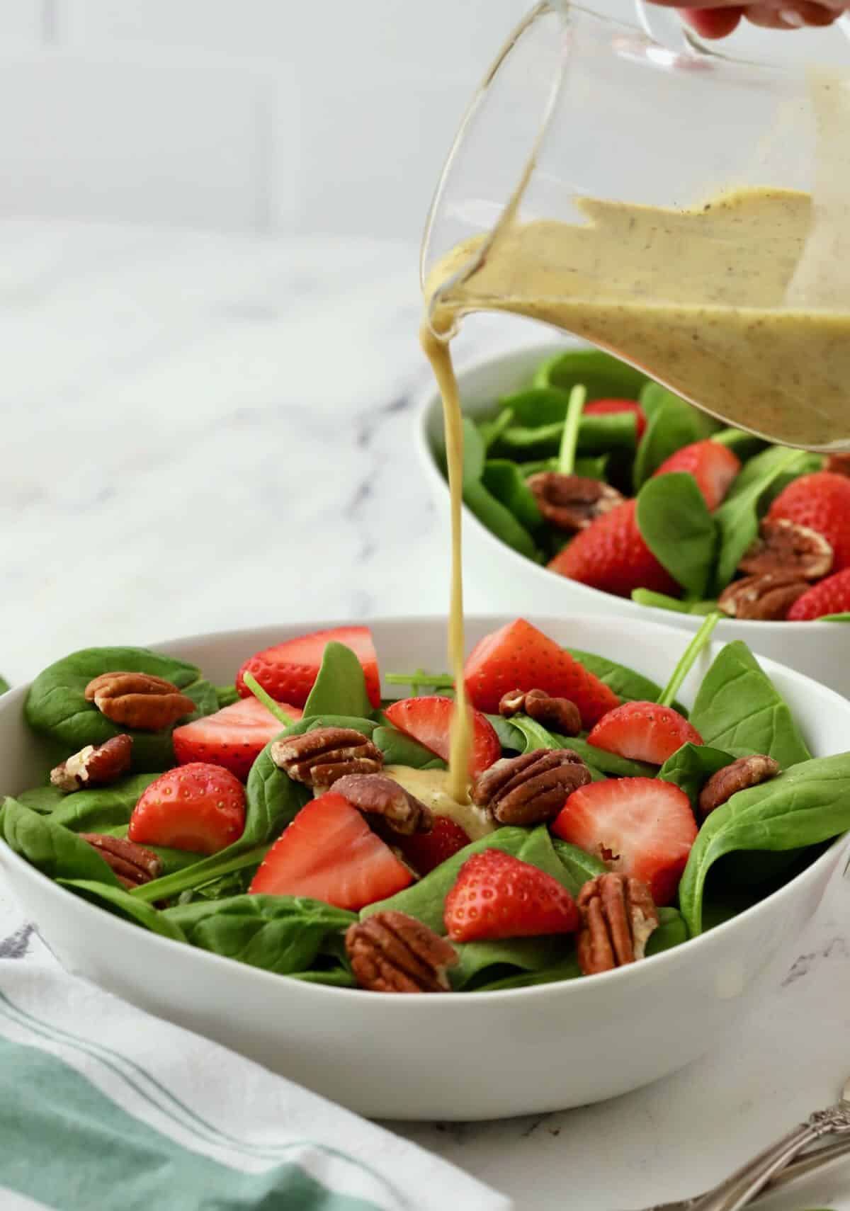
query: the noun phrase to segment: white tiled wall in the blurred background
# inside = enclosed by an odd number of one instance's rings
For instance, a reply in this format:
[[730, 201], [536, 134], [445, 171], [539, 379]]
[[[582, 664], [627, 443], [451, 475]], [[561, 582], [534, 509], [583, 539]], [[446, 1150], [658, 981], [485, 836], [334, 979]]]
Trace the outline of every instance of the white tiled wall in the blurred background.
[[[632, 12], [630, 0], [590, 4]], [[417, 241], [463, 110], [529, 6], [10, 0], [0, 217]], [[765, 39], [783, 57], [850, 63], [834, 31], [750, 31], [736, 50]]]

